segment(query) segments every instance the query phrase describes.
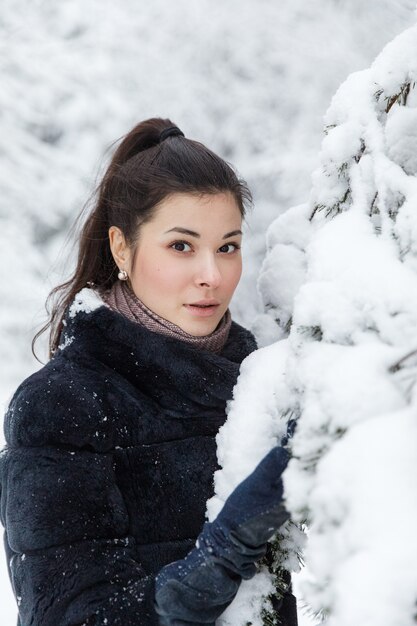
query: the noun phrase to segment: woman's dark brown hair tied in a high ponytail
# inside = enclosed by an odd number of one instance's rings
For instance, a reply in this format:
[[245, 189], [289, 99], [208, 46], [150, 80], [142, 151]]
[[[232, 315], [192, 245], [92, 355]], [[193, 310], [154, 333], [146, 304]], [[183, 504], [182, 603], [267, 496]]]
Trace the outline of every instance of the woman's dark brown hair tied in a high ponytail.
[[55, 300], [47, 324], [35, 335], [50, 329], [49, 350], [58, 347], [63, 317], [75, 295], [87, 285], [109, 289], [118, 268], [110, 250], [108, 231], [117, 226], [134, 246], [141, 224], [149, 221], [157, 205], [173, 193], [214, 194], [230, 192], [242, 217], [252, 196], [246, 182], [229, 163], [202, 143], [181, 135], [160, 141], [160, 134], [175, 124], [151, 118], [137, 124], [122, 138], [94, 194], [94, 204], [82, 227], [77, 266], [72, 277], [48, 296], [47, 310]]

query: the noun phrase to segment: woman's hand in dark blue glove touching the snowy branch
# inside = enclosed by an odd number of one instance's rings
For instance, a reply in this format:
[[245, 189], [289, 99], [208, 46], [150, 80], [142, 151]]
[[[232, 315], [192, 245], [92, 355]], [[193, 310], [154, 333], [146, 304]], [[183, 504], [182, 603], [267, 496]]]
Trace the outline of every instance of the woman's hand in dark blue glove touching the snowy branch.
[[204, 524], [196, 547], [156, 578], [155, 610], [162, 626], [214, 622], [251, 578], [266, 544], [289, 514], [281, 475], [289, 454], [276, 446], [227, 498], [213, 522]]

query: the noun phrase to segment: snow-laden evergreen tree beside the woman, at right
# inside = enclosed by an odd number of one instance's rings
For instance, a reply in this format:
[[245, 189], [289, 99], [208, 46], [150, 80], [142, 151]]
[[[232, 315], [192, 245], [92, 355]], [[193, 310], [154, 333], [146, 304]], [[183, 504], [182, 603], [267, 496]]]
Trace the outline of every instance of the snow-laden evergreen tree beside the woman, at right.
[[[218, 440], [212, 516], [297, 419], [287, 506], [329, 626], [417, 621], [416, 82], [414, 26], [334, 96], [310, 199], [267, 234], [255, 328], [275, 343], [244, 362]], [[278, 539], [294, 568], [305, 539]], [[222, 624], [269, 623], [273, 587], [263, 567]]]

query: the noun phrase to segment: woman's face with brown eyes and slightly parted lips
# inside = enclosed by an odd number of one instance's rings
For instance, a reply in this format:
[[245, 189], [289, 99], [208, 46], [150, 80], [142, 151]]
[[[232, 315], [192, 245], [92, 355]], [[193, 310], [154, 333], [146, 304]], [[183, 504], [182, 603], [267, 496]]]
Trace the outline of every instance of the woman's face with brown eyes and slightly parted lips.
[[[213, 332], [227, 310], [242, 273], [242, 217], [230, 193], [175, 193], [139, 231], [122, 262], [113, 256], [133, 291], [161, 317], [194, 336]], [[119, 235], [119, 239], [117, 237]]]

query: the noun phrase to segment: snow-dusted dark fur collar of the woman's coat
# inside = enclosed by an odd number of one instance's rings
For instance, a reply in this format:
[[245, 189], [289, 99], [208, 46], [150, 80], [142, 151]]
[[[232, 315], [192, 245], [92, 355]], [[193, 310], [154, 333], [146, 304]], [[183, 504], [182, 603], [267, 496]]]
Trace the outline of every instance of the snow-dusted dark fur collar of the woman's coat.
[[166, 414], [183, 418], [224, 412], [240, 364], [256, 342], [232, 322], [220, 354], [197, 349], [129, 321], [88, 289], [69, 311], [61, 346], [66, 359], [100, 362], [153, 398]]

